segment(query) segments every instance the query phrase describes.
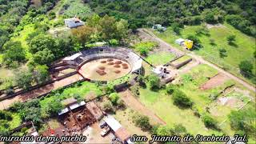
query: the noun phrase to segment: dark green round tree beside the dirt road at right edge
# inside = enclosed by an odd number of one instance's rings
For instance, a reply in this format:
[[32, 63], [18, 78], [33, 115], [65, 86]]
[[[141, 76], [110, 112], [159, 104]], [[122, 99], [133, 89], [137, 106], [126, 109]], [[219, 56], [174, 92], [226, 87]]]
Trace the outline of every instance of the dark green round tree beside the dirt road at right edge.
[[252, 75], [252, 70], [254, 69], [254, 66], [250, 61], [242, 61], [239, 64], [239, 69], [240, 69], [240, 73], [243, 76], [250, 78], [250, 76]]

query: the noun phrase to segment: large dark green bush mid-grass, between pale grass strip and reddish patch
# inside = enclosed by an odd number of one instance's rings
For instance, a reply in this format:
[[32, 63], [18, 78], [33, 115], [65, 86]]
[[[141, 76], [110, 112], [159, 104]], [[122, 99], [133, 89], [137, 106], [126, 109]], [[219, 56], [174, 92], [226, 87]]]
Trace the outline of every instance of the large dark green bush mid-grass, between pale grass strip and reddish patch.
[[193, 106], [193, 102], [181, 90], [174, 90], [174, 93], [172, 94], [172, 99], [174, 100], [174, 105], [176, 106], [180, 106], [183, 108], [190, 108], [191, 106]]

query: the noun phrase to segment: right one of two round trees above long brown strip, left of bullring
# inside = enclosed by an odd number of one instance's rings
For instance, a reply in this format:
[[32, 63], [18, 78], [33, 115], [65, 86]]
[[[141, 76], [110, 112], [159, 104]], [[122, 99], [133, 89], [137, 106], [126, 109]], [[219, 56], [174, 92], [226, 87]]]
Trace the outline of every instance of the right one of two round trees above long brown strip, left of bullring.
[[46, 65], [38, 65], [34, 68], [34, 79], [35, 82], [41, 84], [43, 82], [47, 82], [50, 80], [50, 74], [48, 72], [48, 66]]

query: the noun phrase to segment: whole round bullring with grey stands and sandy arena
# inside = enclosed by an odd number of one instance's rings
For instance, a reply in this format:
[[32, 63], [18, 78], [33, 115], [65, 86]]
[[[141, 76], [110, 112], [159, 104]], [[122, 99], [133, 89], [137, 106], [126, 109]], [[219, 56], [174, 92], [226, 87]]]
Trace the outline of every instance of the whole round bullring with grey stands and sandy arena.
[[111, 81], [126, 74], [140, 73], [142, 58], [125, 47], [95, 47], [84, 50], [64, 62], [78, 66], [79, 74], [92, 81]]

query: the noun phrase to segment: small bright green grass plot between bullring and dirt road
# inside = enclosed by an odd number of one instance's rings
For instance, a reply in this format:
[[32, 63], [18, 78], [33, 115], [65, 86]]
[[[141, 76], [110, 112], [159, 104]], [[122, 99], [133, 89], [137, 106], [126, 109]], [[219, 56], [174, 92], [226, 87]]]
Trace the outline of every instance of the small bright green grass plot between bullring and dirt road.
[[158, 66], [161, 64], [166, 64], [167, 62], [170, 62], [174, 58], [175, 58], [174, 54], [166, 51], [161, 51], [155, 54], [150, 54], [149, 56], [146, 57], [146, 61], [150, 62], [154, 66]]

